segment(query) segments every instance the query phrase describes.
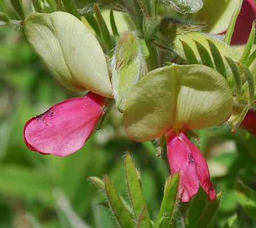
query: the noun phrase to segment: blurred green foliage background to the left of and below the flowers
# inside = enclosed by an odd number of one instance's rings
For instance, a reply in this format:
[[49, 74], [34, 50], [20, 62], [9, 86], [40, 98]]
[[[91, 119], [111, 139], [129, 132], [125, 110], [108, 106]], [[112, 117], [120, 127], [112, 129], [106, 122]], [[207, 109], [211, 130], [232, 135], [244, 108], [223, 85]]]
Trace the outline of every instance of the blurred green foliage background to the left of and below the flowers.
[[[57, 85], [19, 28], [0, 27], [0, 228], [112, 228], [113, 215], [104, 196], [87, 180], [107, 173], [126, 197], [123, 155], [129, 150], [142, 176], [144, 196], [156, 217], [166, 177], [164, 159], [151, 142], [127, 138], [122, 115], [112, 111], [100, 130], [73, 155], [55, 157], [27, 149], [24, 123], [74, 94]], [[200, 150], [207, 157], [217, 192], [224, 191], [214, 227], [238, 214], [235, 227], [253, 228], [256, 222], [238, 206], [237, 176], [256, 189], [256, 138], [245, 131], [231, 135], [225, 126], [200, 130]], [[188, 204], [180, 205], [186, 210]]]

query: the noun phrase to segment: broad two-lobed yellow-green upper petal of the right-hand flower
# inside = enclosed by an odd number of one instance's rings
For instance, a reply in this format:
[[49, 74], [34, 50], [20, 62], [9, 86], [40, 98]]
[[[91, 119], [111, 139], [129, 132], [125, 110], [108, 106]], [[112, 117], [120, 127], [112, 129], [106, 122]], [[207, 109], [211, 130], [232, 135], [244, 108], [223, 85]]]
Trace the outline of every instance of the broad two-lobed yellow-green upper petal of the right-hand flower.
[[172, 127], [220, 125], [232, 107], [232, 92], [220, 73], [204, 65], [171, 65], [151, 71], [133, 86], [125, 105], [125, 130], [129, 138], [145, 142]]

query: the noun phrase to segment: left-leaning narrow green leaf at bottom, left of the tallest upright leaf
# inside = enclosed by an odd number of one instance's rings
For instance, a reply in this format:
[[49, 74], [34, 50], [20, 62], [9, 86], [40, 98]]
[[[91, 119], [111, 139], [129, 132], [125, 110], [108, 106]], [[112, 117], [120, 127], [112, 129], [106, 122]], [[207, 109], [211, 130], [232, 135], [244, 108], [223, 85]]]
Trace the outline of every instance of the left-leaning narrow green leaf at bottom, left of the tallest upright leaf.
[[133, 219], [131, 218], [126, 206], [123, 204], [117, 190], [114, 188], [108, 176], [105, 175], [105, 192], [108, 197], [109, 206], [112, 209], [118, 225], [122, 228], [134, 228]]

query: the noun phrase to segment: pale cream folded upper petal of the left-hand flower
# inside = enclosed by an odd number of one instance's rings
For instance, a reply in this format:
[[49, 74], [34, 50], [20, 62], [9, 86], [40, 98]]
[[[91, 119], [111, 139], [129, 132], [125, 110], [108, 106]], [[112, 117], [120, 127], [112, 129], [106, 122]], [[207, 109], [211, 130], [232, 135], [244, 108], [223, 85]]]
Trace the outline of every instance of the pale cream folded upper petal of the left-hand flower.
[[26, 18], [24, 30], [31, 47], [61, 85], [112, 97], [104, 53], [79, 19], [61, 11], [32, 13]]

